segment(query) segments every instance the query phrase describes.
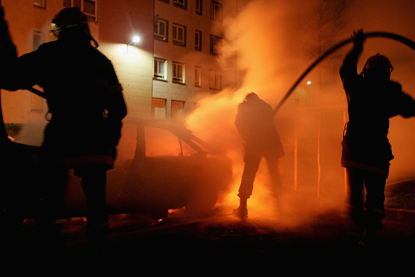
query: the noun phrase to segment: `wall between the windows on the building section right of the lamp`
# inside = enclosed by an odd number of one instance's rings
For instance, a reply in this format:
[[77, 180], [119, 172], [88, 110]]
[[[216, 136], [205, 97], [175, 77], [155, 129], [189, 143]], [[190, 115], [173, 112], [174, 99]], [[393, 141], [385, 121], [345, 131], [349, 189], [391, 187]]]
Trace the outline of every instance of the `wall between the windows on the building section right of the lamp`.
[[[210, 35], [224, 37], [224, 20], [217, 21], [210, 18], [210, 0], [203, 0], [202, 14], [196, 13], [196, 1], [187, 2], [187, 8], [175, 6], [173, 0], [154, 1], [154, 15], [168, 22], [168, 39], [166, 41], [154, 39], [154, 57], [166, 59], [166, 80], [153, 81], [154, 98], [166, 99], [166, 118], [171, 118], [171, 101], [184, 101], [184, 115], [191, 113], [197, 106], [197, 101], [206, 94], [214, 94], [224, 87], [234, 85], [234, 78], [224, 78], [218, 55], [210, 54]], [[234, 16], [237, 1], [215, 1], [224, 7], [224, 17]], [[186, 27], [186, 44], [173, 43], [173, 24]], [[195, 49], [195, 31], [202, 32], [201, 50]], [[173, 82], [173, 62], [180, 62], [185, 66], [184, 83]], [[195, 67], [201, 69], [201, 86], [194, 85]], [[212, 90], [209, 86], [210, 71], [221, 73], [219, 90]]]

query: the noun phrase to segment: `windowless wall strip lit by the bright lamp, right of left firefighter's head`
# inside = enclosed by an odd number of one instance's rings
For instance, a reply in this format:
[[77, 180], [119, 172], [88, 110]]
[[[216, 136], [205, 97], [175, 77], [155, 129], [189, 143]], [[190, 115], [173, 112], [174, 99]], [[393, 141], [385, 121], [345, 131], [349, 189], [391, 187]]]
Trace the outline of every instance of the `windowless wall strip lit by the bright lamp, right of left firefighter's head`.
[[[154, 1], [100, 1], [99, 49], [112, 61], [133, 117], [151, 115], [153, 13]], [[140, 41], [130, 43], [133, 36]]]

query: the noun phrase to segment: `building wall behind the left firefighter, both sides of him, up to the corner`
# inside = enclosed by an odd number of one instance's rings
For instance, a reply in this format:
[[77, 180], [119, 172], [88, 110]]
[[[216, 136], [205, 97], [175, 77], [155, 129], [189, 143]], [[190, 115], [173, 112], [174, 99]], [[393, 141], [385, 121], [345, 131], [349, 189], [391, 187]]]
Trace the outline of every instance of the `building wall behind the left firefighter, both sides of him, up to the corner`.
[[[129, 115], [149, 115], [152, 95], [152, 17], [154, 2], [147, 0], [97, 1], [97, 21], [89, 20], [92, 36], [99, 50], [115, 67], [124, 88]], [[64, 8], [63, 0], [45, 0], [45, 7], [34, 5], [34, 0], [3, 0], [9, 31], [18, 55], [34, 49], [34, 32], [41, 34], [41, 43], [56, 38], [50, 36], [54, 16]], [[140, 43], [126, 47], [132, 34], [139, 34]], [[54, 59], [56, 57], [51, 57]], [[39, 103], [40, 102], [40, 103]], [[1, 91], [1, 105], [6, 123], [45, 124], [48, 106], [44, 99], [26, 90]], [[36, 109], [33, 107], [36, 106]], [[39, 108], [41, 106], [41, 108]]]

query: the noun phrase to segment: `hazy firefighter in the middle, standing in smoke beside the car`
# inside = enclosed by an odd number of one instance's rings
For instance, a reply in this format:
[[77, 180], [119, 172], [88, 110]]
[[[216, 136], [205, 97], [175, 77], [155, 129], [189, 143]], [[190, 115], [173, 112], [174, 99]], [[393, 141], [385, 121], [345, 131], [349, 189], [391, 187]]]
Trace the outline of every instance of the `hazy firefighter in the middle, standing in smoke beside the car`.
[[261, 157], [265, 157], [268, 165], [271, 179], [270, 190], [274, 197], [278, 196], [280, 182], [278, 159], [284, 155], [284, 150], [275, 129], [272, 107], [254, 92], [247, 94], [245, 101], [239, 104], [235, 127], [242, 140], [245, 141], [245, 166], [238, 193], [240, 206], [233, 213], [240, 218], [246, 218], [248, 215], [247, 199], [252, 195]]

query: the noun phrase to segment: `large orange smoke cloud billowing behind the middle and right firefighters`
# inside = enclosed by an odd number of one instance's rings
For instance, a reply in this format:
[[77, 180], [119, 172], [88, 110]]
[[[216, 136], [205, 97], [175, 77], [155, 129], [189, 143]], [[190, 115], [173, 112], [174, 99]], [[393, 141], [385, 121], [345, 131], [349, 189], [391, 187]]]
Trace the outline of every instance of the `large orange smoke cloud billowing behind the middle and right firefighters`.
[[[249, 92], [276, 106], [298, 76], [324, 50], [348, 38], [355, 29], [389, 31], [415, 38], [412, 1], [249, 1], [237, 18], [226, 21], [226, 34], [220, 57], [226, 69], [229, 57], [237, 57], [239, 86], [226, 89], [200, 101], [201, 106], [187, 118], [187, 127], [201, 139], [221, 147], [233, 159], [235, 183], [221, 204], [238, 206], [242, 174], [242, 140], [233, 125], [237, 106]], [[386, 16], [387, 13], [387, 16]], [[382, 20], [380, 20], [382, 18]], [[385, 23], [384, 19], [387, 18]], [[403, 27], [407, 26], [407, 29]], [[284, 191], [282, 210], [291, 214], [318, 213], [325, 208], [343, 208], [344, 169], [340, 166], [342, 130], [347, 122], [347, 102], [338, 75], [342, 58], [351, 45], [335, 52], [310, 72], [275, 116], [286, 155], [281, 159]], [[414, 68], [410, 49], [391, 41], [367, 41], [358, 64], [377, 52], [390, 57], [397, 69], [394, 80], [412, 89], [413, 78], [404, 71]], [[403, 70], [402, 70], [403, 69]], [[307, 81], [311, 81], [307, 85]], [[403, 127], [405, 125], [405, 127]], [[412, 145], [409, 135], [415, 123], [391, 120], [391, 143], [395, 158], [391, 180], [413, 175], [408, 155], [400, 143]], [[404, 138], [400, 137], [402, 134]], [[413, 134], [413, 132], [412, 132]], [[398, 139], [398, 136], [400, 139]], [[404, 150], [405, 151], [405, 150]], [[404, 160], [405, 159], [405, 160]], [[405, 173], [405, 175], [403, 175]], [[274, 216], [268, 196], [268, 173], [260, 165], [254, 193], [248, 201], [250, 215]], [[310, 203], [310, 205], [307, 205]], [[281, 208], [281, 207], [280, 207]], [[310, 212], [310, 213], [308, 213]]]

